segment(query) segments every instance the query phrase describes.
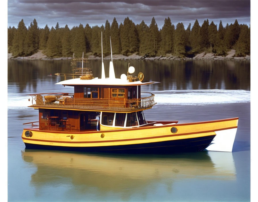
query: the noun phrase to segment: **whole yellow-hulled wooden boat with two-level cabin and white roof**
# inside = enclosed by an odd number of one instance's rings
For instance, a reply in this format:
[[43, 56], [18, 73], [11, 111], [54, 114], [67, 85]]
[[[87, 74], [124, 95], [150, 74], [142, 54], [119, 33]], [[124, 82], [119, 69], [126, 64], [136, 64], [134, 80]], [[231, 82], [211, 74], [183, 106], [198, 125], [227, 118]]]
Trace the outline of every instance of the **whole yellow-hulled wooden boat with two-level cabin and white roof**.
[[[24, 128], [26, 148], [79, 150], [85, 152], [171, 153], [211, 151], [232, 152], [238, 118], [179, 123], [147, 121], [144, 110], [155, 105], [154, 94], [141, 92], [143, 73], [115, 77], [112, 54], [109, 78], [102, 61], [101, 78], [94, 78], [86, 58], [73, 58], [71, 65], [79, 78], [56, 84], [73, 86], [74, 94], [64, 94], [46, 102], [45, 94], [32, 94], [31, 106], [39, 110], [39, 127]], [[60, 95], [60, 94], [59, 94]], [[34, 122], [31, 122], [34, 123]]]

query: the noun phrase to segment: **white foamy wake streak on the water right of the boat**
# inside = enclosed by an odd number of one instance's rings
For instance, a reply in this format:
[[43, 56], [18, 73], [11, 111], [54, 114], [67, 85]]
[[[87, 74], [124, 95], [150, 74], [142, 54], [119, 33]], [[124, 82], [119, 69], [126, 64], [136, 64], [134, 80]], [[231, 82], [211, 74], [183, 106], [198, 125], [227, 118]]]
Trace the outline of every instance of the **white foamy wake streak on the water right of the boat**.
[[246, 90], [165, 90], [155, 91], [157, 104], [206, 105], [250, 102]]

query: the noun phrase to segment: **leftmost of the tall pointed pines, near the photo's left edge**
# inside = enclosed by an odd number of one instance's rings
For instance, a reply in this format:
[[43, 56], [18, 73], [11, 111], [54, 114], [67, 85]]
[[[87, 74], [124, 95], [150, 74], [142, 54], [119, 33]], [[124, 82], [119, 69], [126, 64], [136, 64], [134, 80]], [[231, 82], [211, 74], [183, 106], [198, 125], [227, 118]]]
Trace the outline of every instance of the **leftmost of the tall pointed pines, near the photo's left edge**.
[[19, 22], [17, 31], [14, 34], [12, 53], [14, 56], [24, 56], [24, 40], [27, 34], [27, 28], [23, 22], [23, 19]]

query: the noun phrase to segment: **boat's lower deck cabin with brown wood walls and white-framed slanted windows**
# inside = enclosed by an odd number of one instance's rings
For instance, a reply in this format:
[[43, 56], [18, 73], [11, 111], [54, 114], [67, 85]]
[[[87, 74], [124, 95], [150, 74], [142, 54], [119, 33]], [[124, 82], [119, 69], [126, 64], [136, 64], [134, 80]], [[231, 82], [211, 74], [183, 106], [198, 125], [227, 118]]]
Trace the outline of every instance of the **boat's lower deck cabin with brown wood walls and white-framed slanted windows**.
[[143, 111], [118, 113], [39, 108], [39, 130], [97, 131], [145, 125]]

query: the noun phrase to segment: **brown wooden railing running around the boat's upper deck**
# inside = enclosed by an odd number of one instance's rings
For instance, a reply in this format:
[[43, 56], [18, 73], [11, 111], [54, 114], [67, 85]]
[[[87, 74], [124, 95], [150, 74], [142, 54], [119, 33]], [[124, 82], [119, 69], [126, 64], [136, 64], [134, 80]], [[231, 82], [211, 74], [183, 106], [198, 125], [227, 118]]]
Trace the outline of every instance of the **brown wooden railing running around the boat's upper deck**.
[[36, 101], [36, 104], [33, 104], [32, 106], [56, 106], [58, 108], [131, 111], [135, 109], [150, 108], [156, 104], [154, 101], [154, 94], [146, 92], [141, 93], [141, 98], [125, 100], [73, 98], [72, 96], [58, 95], [53, 102], [47, 102], [44, 98], [44, 94], [37, 94], [34, 96], [33, 99]]

